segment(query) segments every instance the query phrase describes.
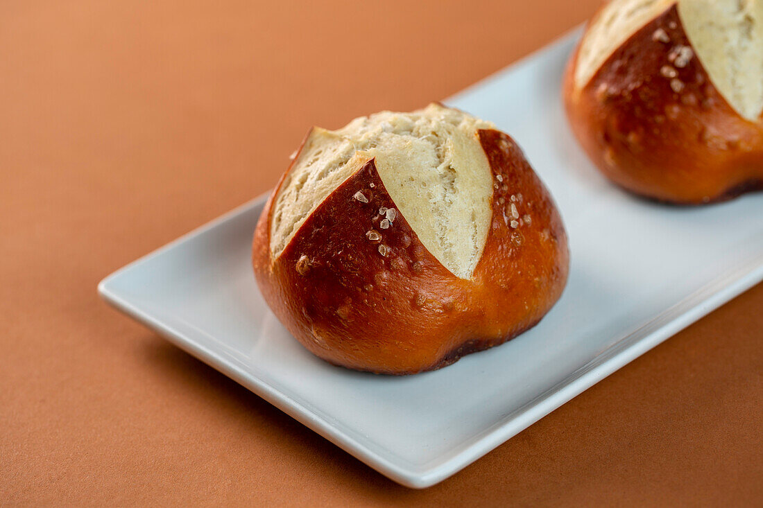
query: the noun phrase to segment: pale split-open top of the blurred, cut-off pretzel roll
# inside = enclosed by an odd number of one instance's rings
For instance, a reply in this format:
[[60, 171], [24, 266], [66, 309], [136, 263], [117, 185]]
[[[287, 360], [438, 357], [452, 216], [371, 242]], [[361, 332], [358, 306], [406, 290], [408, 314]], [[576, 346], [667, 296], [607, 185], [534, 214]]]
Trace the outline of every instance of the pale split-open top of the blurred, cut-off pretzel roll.
[[[604, 7], [581, 43], [575, 87], [591, 81], [598, 69], [636, 31], [677, 5], [693, 53], [720, 95], [740, 116], [760, 121], [763, 112], [763, 0], [614, 0]], [[658, 28], [652, 41], [665, 52], [671, 40]], [[691, 59], [678, 54], [678, 66]], [[673, 86], [674, 85], [674, 86]], [[671, 83], [680, 92], [680, 82]]]

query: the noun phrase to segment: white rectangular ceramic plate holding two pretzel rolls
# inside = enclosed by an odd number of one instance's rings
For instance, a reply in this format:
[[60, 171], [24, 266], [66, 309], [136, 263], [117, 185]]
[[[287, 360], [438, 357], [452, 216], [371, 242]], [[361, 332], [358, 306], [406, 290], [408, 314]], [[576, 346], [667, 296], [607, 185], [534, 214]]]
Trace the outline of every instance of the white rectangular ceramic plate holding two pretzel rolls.
[[264, 198], [115, 272], [101, 295], [382, 474], [409, 487], [442, 481], [763, 278], [763, 195], [652, 204], [581, 153], [559, 92], [578, 37], [446, 101], [520, 143], [568, 230], [565, 294], [517, 339], [403, 378], [320, 361], [257, 290], [250, 250]]

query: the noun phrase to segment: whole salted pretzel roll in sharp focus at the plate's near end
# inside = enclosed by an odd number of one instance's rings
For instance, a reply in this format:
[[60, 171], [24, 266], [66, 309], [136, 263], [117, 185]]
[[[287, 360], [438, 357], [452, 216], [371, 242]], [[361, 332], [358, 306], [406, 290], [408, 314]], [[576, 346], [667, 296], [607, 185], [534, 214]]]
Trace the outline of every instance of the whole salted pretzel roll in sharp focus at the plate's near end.
[[517, 144], [431, 104], [314, 127], [262, 212], [253, 266], [308, 350], [405, 375], [538, 323], [562, 294], [568, 247]]

